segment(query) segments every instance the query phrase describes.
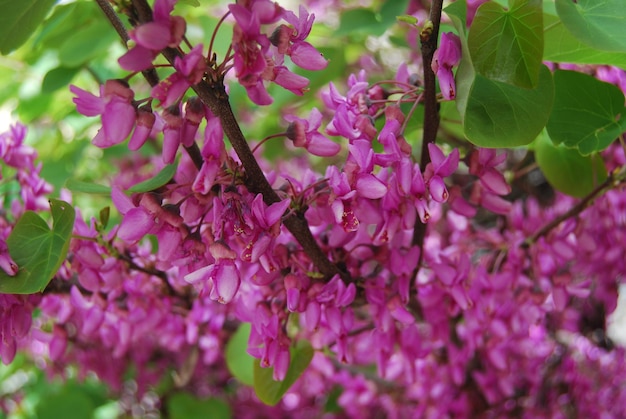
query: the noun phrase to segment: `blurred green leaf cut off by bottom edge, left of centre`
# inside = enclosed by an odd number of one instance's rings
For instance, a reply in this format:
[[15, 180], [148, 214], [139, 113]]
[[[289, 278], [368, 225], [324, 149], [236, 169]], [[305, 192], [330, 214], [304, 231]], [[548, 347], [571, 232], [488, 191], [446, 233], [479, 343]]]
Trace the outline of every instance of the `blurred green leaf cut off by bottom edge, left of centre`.
[[229, 419], [230, 406], [220, 399], [198, 399], [189, 393], [175, 393], [167, 398], [171, 419]]

